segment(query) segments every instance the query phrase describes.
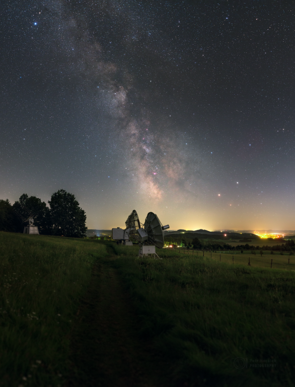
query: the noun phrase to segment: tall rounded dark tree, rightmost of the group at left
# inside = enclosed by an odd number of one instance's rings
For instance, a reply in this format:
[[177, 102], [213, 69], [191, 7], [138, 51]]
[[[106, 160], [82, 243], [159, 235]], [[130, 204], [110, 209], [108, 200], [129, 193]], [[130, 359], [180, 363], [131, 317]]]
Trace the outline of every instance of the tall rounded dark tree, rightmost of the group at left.
[[86, 237], [86, 213], [75, 196], [61, 189], [54, 192], [50, 205], [52, 234], [64, 237]]

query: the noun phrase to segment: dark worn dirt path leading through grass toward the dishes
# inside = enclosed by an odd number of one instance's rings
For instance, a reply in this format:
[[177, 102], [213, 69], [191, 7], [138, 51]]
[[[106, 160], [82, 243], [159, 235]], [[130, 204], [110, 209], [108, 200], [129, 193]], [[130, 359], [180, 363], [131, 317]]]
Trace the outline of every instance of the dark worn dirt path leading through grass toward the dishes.
[[[72, 375], [68, 386], [161, 387], [170, 385], [165, 364], [137, 336], [128, 293], [109, 258], [95, 265], [72, 332]], [[164, 371], [166, 370], [166, 371]]]

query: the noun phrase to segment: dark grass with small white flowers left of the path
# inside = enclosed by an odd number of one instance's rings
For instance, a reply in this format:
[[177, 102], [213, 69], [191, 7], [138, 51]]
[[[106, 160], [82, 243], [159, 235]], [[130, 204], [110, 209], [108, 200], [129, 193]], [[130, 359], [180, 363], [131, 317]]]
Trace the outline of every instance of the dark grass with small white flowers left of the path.
[[58, 386], [71, 325], [106, 246], [0, 233], [0, 385]]

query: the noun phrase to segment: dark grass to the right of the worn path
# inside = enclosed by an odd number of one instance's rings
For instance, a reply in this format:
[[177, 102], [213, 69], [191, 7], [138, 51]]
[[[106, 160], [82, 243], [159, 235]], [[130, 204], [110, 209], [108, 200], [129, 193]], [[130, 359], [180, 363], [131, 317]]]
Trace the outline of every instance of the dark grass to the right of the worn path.
[[126, 247], [115, 249], [141, 316], [138, 329], [175, 364], [175, 380], [191, 386], [294, 385], [293, 271], [172, 252], [162, 260], [138, 259], [135, 248], [128, 248], [128, 258]]

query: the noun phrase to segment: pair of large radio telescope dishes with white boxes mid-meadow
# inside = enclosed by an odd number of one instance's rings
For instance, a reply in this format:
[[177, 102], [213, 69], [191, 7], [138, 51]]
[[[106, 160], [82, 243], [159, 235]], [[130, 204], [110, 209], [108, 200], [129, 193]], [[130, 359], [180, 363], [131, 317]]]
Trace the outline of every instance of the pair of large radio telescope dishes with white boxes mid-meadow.
[[[169, 224], [163, 226], [160, 219], [154, 212], [146, 215], [144, 224], [140, 224], [137, 212], [133, 210], [128, 216], [126, 229], [112, 228], [112, 239], [123, 242], [124, 245], [132, 245], [131, 240], [139, 242], [139, 257], [156, 254], [156, 247], [162, 249], [164, 246], [164, 230]], [[143, 227], [142, 227], [143, 226]], [[159, 258], [159, 256], [157, 255]]]

